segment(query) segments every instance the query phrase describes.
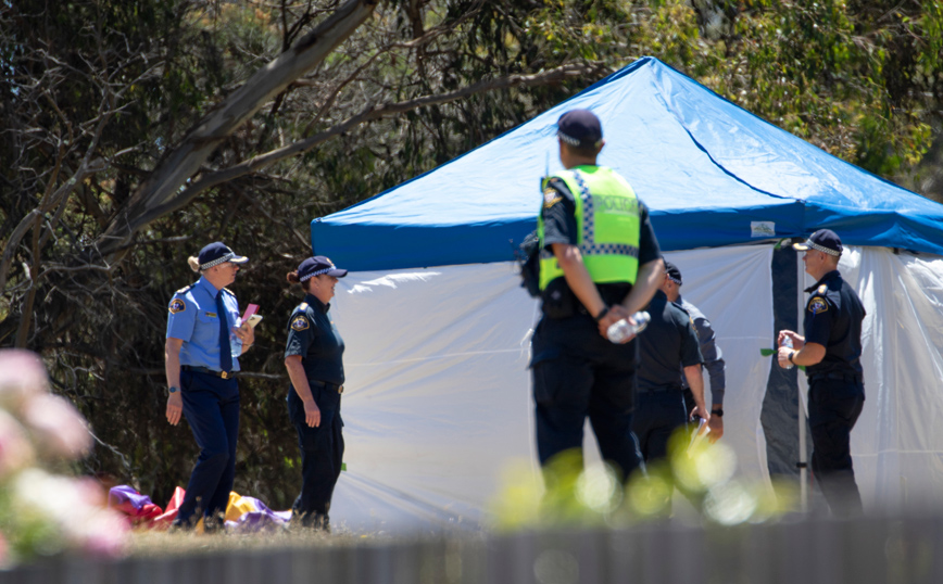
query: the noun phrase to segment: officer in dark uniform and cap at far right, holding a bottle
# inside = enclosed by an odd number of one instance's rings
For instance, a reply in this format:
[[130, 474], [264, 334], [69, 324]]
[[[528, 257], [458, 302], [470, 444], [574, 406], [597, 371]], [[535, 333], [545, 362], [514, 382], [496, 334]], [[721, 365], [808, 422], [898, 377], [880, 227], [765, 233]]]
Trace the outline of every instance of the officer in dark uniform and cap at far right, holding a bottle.
[[851, 432], [865, 404], [862, 368], [862, 321], [865, 307], [839, 274], [842, 241], [829, 229], [819, 229], [805, 243], [805, 271], [816, 279], [805, 307], [805, 337], [779, 331], [779, 365], [805, 366], [808, 378], [808, 422], [812, 430], [814, 477], [838, 517], [859, 515], [862, 496], [852, 467]]

